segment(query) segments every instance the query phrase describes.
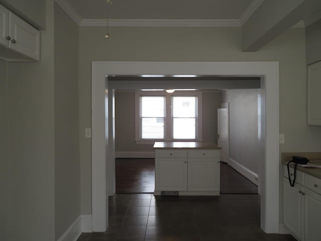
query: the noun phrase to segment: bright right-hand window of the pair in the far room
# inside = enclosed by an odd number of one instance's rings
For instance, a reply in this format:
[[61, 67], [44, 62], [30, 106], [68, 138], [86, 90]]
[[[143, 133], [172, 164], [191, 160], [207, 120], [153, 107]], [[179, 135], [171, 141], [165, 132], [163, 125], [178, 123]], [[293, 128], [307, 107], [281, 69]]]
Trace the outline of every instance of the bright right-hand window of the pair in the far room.
[[173, 96], [173, 138], [196, 138], [196, 96]]

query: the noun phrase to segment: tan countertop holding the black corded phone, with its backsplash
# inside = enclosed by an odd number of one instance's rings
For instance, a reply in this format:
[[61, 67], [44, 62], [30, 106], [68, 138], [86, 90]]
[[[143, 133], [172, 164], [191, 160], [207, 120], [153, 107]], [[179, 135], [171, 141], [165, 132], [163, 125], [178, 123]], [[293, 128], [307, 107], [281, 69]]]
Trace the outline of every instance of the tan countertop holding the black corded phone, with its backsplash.
[[[321, 166], [321, 153], [282, 153], [281, 161], [282, 164], [286, 165], [288, 161], [292, 160], [292, 156], [303, 156], [309, 159], [308, 163], [316, 164]], [[294, 164], [290, 164], [290, 166], [294, 166]], [[298, 171], [309, 174], [313, 177], [321, 179], [321, 168], [313, 168], [313, 167], [297, 167]]]

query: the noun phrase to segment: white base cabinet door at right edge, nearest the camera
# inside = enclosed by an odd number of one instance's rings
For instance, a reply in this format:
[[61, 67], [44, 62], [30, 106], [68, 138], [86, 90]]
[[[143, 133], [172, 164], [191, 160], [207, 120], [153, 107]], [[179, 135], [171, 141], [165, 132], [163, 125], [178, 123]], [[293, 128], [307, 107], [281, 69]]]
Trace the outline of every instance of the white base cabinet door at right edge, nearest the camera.
[[305, 189], [305, 239], [306, 241], [321, 240], [321, 195]]

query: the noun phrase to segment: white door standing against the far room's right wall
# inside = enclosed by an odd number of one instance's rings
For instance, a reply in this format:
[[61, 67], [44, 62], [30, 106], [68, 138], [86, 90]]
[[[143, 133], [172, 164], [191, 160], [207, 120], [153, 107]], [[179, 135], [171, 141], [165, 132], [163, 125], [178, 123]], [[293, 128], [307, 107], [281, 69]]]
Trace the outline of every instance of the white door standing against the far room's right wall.
[[217, 144], [221, 149], [221, 162], [229, 162], [229, 109], [217, 109]]

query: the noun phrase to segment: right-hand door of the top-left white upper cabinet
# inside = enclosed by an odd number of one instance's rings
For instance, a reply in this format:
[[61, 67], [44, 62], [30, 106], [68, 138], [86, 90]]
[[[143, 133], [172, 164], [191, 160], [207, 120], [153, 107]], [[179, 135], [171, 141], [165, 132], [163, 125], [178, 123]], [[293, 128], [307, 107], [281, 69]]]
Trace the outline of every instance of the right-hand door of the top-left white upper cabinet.
[[40, 32], [13, 13], [9, 13], [9, 48], [35, 60], [40, 59]]

